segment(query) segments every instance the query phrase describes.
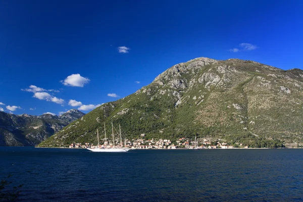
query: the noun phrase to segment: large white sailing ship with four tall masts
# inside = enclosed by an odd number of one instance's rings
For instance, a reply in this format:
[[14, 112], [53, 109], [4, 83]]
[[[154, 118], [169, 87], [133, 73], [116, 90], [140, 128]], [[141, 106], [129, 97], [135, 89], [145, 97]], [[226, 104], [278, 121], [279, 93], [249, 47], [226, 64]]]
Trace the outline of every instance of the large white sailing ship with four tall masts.
[[106, 129], [105, 129], [105, 123], [104, 123], [104, 132], [105, 132], [105, 144], [101, 145], [99, 144], [99, 132], [97, 129], [97, 139], [98, 139], [98, 145], [94, 148], [87, 148], [90, 151], [93, 152], [126, 152], [131, 150], [130, 148], [126, 147], [126, 139], [125, 139], [125, 143], [124, 143], [124, 147], [122, 146], [122, 136], [121, 136], [121, 127], [119, 124], [119, 129], [120, 129], [120, 143], [121, 145], [119, 146], [115, 146], [115, 136], [114, 136], [114, 126], [112, 123], [112, 136], [113, 136], [113, 146], [108, 146], [107, 145], [107, 139], [106, 139]]

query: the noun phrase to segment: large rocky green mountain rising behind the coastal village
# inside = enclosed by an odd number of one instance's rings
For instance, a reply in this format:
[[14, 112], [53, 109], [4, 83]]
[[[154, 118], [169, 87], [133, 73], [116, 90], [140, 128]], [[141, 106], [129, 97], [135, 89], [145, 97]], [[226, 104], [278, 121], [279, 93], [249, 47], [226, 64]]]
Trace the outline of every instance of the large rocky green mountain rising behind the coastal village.
[[[212, 137], [256, 147], [302, 141], [303, 71], [254, 61], [196, 58], [147, 86], [104, 104], [40, 146], [95, 142], [121, 124], [123, 134], [147, 138]], [[280, 142], [281, 143], [281, 142]], [[281, 144], [279, 144], [281, 145]]]

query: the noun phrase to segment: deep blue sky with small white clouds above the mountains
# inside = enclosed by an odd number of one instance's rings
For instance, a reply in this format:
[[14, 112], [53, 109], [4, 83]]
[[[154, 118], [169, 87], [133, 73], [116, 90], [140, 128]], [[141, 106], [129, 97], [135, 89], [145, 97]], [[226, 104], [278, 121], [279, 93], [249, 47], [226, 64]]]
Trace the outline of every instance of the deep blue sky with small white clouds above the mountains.
[[299, 0], [0, 1], [0, 111], [88, 113], [197, 57], [302, 69], [302, 9]]

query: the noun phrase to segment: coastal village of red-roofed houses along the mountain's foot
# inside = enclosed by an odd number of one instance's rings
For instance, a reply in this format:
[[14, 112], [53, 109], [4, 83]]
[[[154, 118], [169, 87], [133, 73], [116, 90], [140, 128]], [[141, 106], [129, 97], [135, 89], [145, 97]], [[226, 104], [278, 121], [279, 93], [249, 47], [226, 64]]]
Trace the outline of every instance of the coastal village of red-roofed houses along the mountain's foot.
[[[135, 139], [125, 139], [123, 143], [115, 142], [116, 147], [127, 147], [131, 149], [228, 149], [235, 148], [228, 142], [221, 141], [221, 139], [209, 140], [209, 139], [197, 139], [196, 141], [191, 138], [179, 138], [177, 140], [170, 139], [145, 139], [145, 134], [141, 134], [140, 138]], [[242, 143], [235, 142], [236, 148], [248, 148], [248, 146], [242, 145]], [[72, 143], [69, 148], [94, 148], [97, 145], [93, 143], [86, 142], [82, 143]], [[104, 141], [104, 144], [99, 145], [101, 148], [111, 148], [114, 144], [112, 141]]]

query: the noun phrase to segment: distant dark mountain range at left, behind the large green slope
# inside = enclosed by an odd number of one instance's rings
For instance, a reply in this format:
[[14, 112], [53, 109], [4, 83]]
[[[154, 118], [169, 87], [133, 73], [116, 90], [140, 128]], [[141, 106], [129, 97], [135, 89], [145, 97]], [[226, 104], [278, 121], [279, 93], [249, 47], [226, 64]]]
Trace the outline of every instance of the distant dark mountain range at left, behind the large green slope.
[[0, 112], [0, 146], [36, 145], [83, 115], [74, 109], [60, 116], [50, 113], [32, 116]]

